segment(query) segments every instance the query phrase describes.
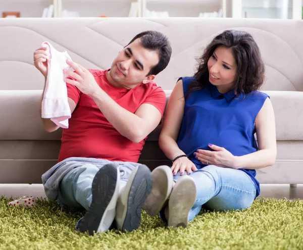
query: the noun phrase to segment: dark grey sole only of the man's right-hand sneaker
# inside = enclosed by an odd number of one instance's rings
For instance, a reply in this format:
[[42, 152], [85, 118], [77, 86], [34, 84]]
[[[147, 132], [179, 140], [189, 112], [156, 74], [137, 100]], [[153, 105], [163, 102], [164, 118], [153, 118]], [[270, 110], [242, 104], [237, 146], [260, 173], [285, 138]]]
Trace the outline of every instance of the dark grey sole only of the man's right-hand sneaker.
[[139, 165], [135, 174], [128, 180], [125, 188], [129, 189], [127, 206], [122, 212], [123, 225], [118, 225], [121, 230], [131, 232], [137, 229], [141, 223], [141, 209], [146, 197], [153, 186], [153, 177], [149, 168], [145, 165]]

